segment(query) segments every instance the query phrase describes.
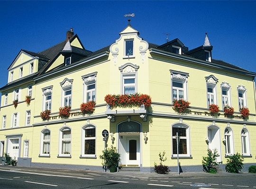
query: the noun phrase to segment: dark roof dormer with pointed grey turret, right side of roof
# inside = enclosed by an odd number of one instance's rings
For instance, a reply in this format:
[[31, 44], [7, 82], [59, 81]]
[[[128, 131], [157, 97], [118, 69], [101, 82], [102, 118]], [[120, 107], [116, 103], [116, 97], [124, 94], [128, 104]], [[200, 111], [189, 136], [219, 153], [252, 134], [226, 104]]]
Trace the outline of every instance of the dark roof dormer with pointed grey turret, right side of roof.
[[205, 33], [204, 38], [204, 44], [200, 47], [197, 47], [195, 49], [192, 49], [188, 52], [185, 52], [185, 54], [190, 55], [196, 59], [205, 60], [211, 62], [211, 51], [212, 46], [210, 45], [209, 38], [207, 36], [207, 33]]

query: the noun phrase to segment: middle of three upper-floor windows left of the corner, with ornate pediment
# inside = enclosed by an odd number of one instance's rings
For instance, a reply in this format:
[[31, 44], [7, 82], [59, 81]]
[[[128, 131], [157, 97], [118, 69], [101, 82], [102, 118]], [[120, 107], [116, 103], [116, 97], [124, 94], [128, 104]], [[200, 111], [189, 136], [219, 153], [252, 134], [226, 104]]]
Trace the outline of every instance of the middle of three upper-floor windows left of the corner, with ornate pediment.
[[65, 78], [60, 84], [62, 87], [61, 106], [71, 106], [73, 79]]

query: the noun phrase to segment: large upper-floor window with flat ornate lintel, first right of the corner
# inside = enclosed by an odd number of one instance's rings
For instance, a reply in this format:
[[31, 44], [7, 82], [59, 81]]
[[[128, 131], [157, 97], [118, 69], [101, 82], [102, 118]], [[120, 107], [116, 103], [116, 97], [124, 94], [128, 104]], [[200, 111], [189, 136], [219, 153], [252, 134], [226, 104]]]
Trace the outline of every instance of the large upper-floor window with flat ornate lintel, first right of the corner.
[[172, 101], [174, 99], [180, 100], [187, 100], [187, 78], [188, 73], [171, 70], [171, 84], [172, 84]]

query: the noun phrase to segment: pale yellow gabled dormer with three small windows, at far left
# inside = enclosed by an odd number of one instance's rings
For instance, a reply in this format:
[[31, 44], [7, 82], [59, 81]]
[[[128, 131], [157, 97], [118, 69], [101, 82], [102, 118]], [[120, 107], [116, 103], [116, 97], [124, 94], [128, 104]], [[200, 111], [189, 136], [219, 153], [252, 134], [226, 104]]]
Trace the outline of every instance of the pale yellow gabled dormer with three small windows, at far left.
[[20, 50], [15, 60], [8, 68], [8, 83], [34, 75], [48, 60], [49, 58], [46, 55], [23, 49]]

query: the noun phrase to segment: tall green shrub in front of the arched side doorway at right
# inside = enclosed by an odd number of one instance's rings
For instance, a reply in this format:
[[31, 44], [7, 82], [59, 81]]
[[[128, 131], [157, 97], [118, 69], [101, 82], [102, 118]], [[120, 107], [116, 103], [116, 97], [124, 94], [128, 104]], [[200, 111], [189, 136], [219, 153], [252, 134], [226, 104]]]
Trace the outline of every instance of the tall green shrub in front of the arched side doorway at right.
[[213, 166], [219, 165], [221, 162], [217, 162], [217, 157], [219, 157], [219, 154], [217, 153], [217, 149], [213, 149], [213, 153], [210, 149], [207, 149], [207, 156], [202, 157], [202, 165], [203, 165], [203, 171], [209, 172], [209, 173], [216, 173], [217, 169]]

